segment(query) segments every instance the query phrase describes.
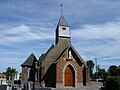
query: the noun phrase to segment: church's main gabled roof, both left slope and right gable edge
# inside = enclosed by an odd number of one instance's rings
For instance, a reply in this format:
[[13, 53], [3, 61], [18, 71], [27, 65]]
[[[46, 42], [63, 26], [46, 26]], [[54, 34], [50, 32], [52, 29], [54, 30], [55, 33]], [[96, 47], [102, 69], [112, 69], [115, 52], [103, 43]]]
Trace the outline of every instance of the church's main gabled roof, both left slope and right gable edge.
[[69, 44], [69, 45], [61, 45], [61, 44], [56, 44], [54, 46], [54, 48], [52, 48], [49, 53], [41, 55], [41, 57], [39, 58], [39, 62], [42, 63], [45, 69], [45, 72], [47, 71], [47, 69], [50, 67], [51, 64], [56, 63], [59, 58], [61, 57], [61, 55], [68, 50], [69, 48], [71, 48], [75, 54], [77, 55], [77, 57], [79, 58], [79, 61], [82, 64], [85, 64], [84, 60], [82, 59], [82, 57], [78, 54], [78, 52], [75, 50], [75, 48]]

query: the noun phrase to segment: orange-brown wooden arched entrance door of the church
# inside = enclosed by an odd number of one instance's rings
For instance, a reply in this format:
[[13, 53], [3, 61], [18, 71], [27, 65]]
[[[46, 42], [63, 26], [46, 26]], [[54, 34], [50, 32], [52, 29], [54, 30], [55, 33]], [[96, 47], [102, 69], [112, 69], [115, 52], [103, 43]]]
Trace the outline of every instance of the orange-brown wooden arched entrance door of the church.
[[65, 86], [74, 87], [75, 86], [75, 72], [72, 66], [68, 65], [65, 69]]

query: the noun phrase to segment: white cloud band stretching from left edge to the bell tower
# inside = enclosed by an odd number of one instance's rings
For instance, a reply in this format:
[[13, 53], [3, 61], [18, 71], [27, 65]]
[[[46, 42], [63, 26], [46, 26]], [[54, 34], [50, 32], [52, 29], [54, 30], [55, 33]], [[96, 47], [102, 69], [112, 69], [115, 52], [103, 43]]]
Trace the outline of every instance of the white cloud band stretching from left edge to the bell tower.
[[[49, 30], [48, 30], [49, 29]], [[0, 45], [18, 43], [28, 40], [48, 40], [53, 38], [52, 28], [19, 25], [0, 30]]]

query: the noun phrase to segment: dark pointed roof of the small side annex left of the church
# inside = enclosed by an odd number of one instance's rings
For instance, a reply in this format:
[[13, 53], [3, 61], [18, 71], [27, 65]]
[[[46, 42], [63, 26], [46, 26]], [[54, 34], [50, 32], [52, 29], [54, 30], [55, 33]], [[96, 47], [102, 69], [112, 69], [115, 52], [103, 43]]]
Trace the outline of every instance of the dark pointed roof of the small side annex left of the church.
[[23, 64], [21, 64], [22, 67], [31, 67], [33, 66], [34, 61], [37, 61], [35, 55], [32, 53]]

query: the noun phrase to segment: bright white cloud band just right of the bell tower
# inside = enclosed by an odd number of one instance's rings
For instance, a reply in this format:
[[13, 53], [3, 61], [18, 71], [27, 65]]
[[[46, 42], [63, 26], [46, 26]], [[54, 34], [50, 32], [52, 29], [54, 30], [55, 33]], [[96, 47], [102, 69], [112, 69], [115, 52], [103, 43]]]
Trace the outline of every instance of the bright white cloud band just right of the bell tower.
[[120, 40], [120, 21], [97, 25], [85, 25], [73, 30], [73, 37], [82, 39], [115, 39]]

